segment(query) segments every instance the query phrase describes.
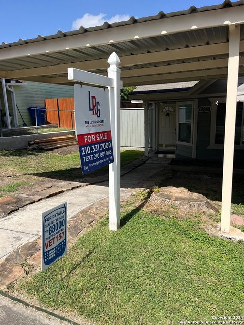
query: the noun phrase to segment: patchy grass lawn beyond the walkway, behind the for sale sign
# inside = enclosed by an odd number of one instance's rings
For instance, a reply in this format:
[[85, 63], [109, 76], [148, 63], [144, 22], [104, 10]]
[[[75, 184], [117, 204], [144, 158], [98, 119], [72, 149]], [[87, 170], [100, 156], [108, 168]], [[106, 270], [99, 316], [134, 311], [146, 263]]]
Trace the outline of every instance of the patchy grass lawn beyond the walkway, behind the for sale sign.
[[[78, 149], [77, 149], [78, 150]], [[121, 150], [121, 166], [143, 156], [143, 151]], [[6, 192], [12, 193], [22, 185], [35, 183], [40, 179], [58, 179], [73, 181], [82, 178], [79, 152], [59, 155], [50, 151], [0, 151], [0, 177], [3, 186], [0, 187], [0, 197]], [[102, 169], [108, 171], [108, 166]], [[96, 176], [97, 171], [87, 176]], [[101, 170], [99, 171], [101, 174]]]

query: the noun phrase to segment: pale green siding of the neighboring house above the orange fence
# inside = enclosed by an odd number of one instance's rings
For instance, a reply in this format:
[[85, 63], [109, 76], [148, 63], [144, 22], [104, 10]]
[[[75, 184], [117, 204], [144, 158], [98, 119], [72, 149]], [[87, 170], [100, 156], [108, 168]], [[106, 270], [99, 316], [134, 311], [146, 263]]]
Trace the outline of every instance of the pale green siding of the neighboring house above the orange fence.
[[[45, 106], [45, 98], [67, 98], [74, 96], [73, 86], [52, 85], [32, 81], [26, 81], [24, 86], [15, 86], [14, 91], [16, 104], [18, 105], [23, 119], [28, 126], [32, 125], [31, 116], [27, 110], [28, 107]], [[7, 92], [10, 93], [8, 90]], [[9, 103], [11, 103], [11, 95]], [[19, 112], [18, 119], [19, 124], [22, 125], [23, 121]]]

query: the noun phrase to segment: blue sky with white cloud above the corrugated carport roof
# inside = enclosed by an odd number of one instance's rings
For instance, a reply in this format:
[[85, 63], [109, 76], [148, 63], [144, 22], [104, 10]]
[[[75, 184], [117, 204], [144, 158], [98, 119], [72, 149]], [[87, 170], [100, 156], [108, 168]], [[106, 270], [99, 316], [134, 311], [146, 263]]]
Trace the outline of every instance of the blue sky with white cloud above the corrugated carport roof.
[[30, 39], [38, 35], [56, 34], [58, 30], [71, 31], [80, 26], [98, 26], [110, 23], [220, 4], [221, 0], [0, 0], [0, 44]]

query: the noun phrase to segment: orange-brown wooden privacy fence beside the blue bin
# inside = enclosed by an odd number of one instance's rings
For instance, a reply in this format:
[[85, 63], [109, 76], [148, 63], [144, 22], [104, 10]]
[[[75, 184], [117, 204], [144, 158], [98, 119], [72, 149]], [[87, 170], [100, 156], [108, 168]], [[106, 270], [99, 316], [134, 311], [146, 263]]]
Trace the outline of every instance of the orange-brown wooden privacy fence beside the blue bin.
[[57, 124], [58, 127], [75, 128], [75, 117], [72, 112], [74, 111], [73, 98], [46, 98], [45, 106], [47, 123]]

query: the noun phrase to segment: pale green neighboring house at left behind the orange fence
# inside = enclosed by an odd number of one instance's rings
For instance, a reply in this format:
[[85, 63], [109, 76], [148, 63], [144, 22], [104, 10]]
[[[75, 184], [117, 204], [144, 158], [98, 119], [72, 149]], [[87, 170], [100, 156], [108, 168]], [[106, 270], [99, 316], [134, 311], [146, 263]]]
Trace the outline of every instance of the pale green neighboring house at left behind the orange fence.
[[[27, 110], [28, 107], [45, 106], [46, 98], [69, 98], [74, 96], [73, 86], [5, 79], [4, 86], [2, 83], [2, 87], [0, 87], [0, 109], [2, 108], [2, 115], [3, 113], [5, 115], [6, 107], [4, 87], [6, 89], [9, 113], [12, 117], [11, 128], [22, 126], [24, 122], [28, 126], [32, 126], [31, 116]], [[24, 122], [15, 103], [19, 108]]]

